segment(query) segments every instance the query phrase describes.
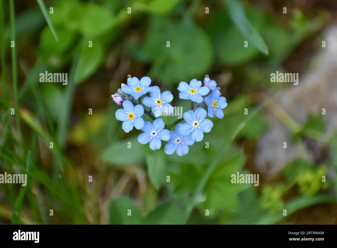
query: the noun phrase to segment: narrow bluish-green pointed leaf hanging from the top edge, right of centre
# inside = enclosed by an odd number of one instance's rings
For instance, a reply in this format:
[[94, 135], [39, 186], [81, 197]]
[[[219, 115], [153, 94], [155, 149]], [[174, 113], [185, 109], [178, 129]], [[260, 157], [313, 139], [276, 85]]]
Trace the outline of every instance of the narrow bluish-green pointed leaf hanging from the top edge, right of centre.
[[257, 30], [246, 17], [243, 4], [237, 0], [228, 0], [229, 15], [241, 33], [262, 53], [268, 55], [268, 47]]

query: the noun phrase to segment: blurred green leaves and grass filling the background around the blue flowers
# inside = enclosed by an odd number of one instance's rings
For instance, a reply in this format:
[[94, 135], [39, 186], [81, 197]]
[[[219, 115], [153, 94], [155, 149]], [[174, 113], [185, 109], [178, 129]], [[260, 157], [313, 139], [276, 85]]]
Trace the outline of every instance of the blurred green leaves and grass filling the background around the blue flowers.
[[[266, 183], [268, 178], [261, 174], [258, 187], [231, 183], [231, 175], [237, 172], [259, 173], [244, 148], [269, 126], [256, 107], [263, 97], [256, 100], [252, 93], [275, 91], [270, 70], [283, 67], [295, 48], [322, 27], [319, 18], [307, 19], [294, 9], [284, 22], [275, 13], [239, 0], [46, 4], [58, 41], [37, 4], [16, 11], [17, 99], [6, 70], [10, 63], [1, 67], [0, 166], [7, 173], [27, 173], [29, 183], [25, 188], [0, 185], [0, 220], [14, 224], [273, 224], [287, 217], [283, 209], [289, 216], [335, 200], [327, 192], [332, 186], [337, 189], [336, 180], [326, 173], [327, 165], [317, 167], [303, 159], [286, 165], [277, 182]], [[50, 6], [54, 14], [49, 14]], [[205, 13], [206, 7], [210, 14]], [[2, 46], [13, 30], [8, 14], [1, 18], [6, 21]], [[6, 53], [7, 47], [2, 54]], [[39, 73], [46, 70], [68, 72], [68, 85], [39, 83]], [[224, 72], [231, 73], [231, 84], [222, 82]], [[167, 156], [163, 145], [153, 152], [137, 142], [137, 131], [125, 134], [114, 119], [117, 106], [110, 95], [126, 83], [128, 74], [148, 75], [153, 85], [161, 84], [173, 93], [180, 81], [216, 75], [228, 102], [224, 118], [214, 119], [212, 132], [183, 157]], [[174, 94], [174, 105], [187, 111], [190, 103]], [[14, 116], [10, 114], [13, 100], [19, 105]], [[93, 109], [92, 116], [88, 108]], [[170, 124], [175, 118], [163, 120]], [[299, 137], [313, 130], [314, 137], [325, 131], [322, 115], [309, 115], [293, 142], [301, 142]], [[336, 144], [335, 135], [331, 138], [334, 151]], [[89, 175], [93, 182], [88, 182]], [[331, 183], [322, 183], [323, 175]], [[286, 194], [294, 188], [289, 200]]]

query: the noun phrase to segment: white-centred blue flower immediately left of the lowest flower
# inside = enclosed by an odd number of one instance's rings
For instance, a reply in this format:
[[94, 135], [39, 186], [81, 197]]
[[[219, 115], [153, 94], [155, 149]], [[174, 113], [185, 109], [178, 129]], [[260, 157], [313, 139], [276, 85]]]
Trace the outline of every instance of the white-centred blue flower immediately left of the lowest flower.
[[158, 150], [161, 147], [161, 140], [167, 141], [170, 139], [170, 131], [167, 129], [163, 129], [165, 123], [161, 118], [158, 118], [151, 122], [146, 121], [141, 133], [138, 135], [137, 140], [139, 143], [145, 145], [150, 142], [150, 148], [152, 150]]

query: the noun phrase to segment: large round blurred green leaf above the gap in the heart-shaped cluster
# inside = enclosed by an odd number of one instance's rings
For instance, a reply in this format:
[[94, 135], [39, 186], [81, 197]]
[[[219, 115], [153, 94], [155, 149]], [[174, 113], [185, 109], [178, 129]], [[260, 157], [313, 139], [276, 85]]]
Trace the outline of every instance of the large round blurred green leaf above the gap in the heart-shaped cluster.
[[[213, 49], [205, 31], [192, 22], [178, 26], [156, 19], [151, 22], [145, 40], [138, 51], [142, 60], [154, 61], [150, 71], [163, 83], [205, 75], [212, 64]], [[170, 41], [170, 47], [166, 42]]]

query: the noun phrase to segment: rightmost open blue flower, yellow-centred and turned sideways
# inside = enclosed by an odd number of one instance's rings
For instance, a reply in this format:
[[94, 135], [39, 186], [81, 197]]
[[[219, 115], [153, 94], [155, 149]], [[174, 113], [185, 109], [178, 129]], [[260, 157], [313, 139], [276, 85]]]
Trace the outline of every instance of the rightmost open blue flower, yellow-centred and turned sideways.
[[208, 116], [214, 117], [214, 114], [222, 119], [223, 112], [221, 109], [224, 109], [227, 106], [226, 98], [220, 96], [220, 91], [215, 89], [212, 94], [205, 97], [205, 102], [208, 106]]

